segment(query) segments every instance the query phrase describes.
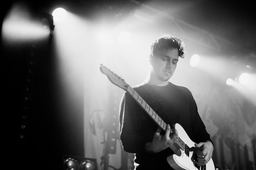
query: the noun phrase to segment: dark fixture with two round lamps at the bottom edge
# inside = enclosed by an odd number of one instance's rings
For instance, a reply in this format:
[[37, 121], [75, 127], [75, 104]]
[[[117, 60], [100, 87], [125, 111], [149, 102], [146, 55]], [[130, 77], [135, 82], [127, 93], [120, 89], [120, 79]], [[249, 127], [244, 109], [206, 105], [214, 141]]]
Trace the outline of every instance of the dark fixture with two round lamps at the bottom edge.
[[98, 170], [97, 159], [63, 155], [63, 170]]

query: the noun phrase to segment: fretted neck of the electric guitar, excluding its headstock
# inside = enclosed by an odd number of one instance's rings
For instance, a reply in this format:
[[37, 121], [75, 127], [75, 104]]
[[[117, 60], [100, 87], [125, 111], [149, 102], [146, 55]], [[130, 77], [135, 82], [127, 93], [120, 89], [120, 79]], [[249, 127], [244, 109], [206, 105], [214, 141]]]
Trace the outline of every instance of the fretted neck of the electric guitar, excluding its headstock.
[[[166, 130], [167, 124], [164, 122], [164, 120], [157, 115], [157, 113], [145, 102], [144, 99], [130, 86], [128, 85], [128, 90], [126, 90], [132, 97], [135, 99], [135, 101], [144, 109], [144, 111], [155, 121], [155, 123], [162, 129]], [[172, 132], [172, 130], [171, 130]], [[182, 150], [188, 150], [188, 146], [180, 139], [176, 143], [179, 148]]]

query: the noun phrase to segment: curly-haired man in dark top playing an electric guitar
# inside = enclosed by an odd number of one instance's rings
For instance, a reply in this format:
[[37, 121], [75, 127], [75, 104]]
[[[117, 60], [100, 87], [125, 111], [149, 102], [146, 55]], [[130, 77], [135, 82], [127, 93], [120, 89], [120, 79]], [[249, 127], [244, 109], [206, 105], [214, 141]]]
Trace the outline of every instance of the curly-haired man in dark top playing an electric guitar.
[[[198, 114], [191, 92], [172, 84], [179, 57], [184, 58], [182, 40], [164, 35], [150, 46], [149, 72], [146, 80], [133, 89], [161, 117], [166, 124], [162, 131], [153, 119], [127, 92], [120, 104], [120, 138], [126, 152], [135, 153], [135, 170], [171, 170], [166, 157], [173, 155], [170, 148], [178, 140], [178, 131], [171, 126], [178, 123], [195, 142], [198, 155], [195, 164], [205, 165], [212, 156], [213, 143]], [[181, 77], [182, 78], [182, 77]]]

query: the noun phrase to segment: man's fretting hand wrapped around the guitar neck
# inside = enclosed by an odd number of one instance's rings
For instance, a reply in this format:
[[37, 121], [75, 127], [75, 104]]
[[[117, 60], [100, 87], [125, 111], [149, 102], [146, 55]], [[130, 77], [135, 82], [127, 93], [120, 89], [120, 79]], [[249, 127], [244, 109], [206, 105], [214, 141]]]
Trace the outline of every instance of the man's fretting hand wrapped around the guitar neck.
[[161, 152], [168, 148], [174, 142], [177, 142], [179, 139], [178, 132], [176, 129], [173, 129], [171, 133], [171, 126], [167, 124], [164, 135], [160, 134], [161, 129], [158, 128], [154, 134], [153, 141], [147, 142], [145, 145], [145, 149], [147, 152], [157, 153]]

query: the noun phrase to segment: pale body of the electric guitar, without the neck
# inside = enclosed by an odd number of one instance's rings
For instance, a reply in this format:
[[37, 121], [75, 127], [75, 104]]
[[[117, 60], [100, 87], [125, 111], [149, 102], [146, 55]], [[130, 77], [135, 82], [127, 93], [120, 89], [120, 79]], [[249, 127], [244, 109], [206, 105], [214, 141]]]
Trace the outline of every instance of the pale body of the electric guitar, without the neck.
[[[174, 128], [177, 129], [180, 139], [182, 139], [189, 148], [195, 147], [195, 142], [189, 138], [180, 124], [175, 124]], [[215, 170], [212, 159], [206, 164], [206, 166], [196, 166], [193, 163], [193, 160], [196, 159], [194, 152], [189, 151], [188, 156], [184, 150], [180, 149], [179, 146], [176, 145], [176, 143], [170, 148], [175, 154], [167, 157], [166, 159], [169, 165], [175, 170]]]

